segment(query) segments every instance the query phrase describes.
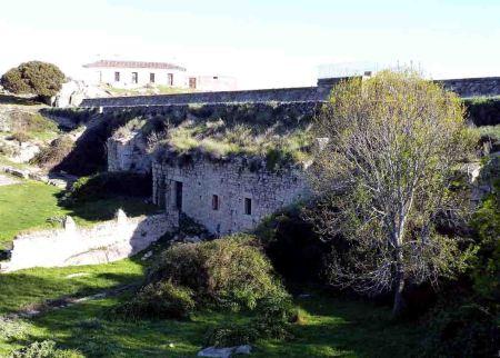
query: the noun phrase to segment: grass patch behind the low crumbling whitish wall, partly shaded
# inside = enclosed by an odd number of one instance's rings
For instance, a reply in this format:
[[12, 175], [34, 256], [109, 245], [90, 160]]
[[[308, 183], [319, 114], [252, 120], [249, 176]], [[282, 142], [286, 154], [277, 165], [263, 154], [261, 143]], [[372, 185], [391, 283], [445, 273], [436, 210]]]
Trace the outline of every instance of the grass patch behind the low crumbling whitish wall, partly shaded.
[[66, 207], [59, 198], [62, 190], [41, 182], [23, 180], [0, 187], [0, 248], [4, 248], [22, 230], [53, 227], [49, 218], [70, 215], [78, 225], [112, 219], [118, 208], [130, 216], [154, 212], [157, 207], [141, 199], [113, 198]]

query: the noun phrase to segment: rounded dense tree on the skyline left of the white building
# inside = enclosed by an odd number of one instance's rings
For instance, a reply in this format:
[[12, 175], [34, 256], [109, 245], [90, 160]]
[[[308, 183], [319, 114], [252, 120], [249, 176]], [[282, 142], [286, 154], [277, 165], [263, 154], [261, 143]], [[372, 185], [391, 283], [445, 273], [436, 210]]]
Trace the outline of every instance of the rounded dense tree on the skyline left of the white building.
[[37, 95], [48, 102], [56, 96], [64, 82], [64, 73], [52, 63], [30, 61], [7, 71], [0, 79], [0, 84], [17, 95]]

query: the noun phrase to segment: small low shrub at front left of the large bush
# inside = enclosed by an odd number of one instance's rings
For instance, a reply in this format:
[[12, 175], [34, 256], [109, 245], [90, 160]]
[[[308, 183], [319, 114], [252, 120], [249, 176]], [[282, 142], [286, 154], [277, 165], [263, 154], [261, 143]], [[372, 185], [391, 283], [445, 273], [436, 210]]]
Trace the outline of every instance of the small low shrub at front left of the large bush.
[[141, 318], [187, 318], [194, 309], [192, 291], [169, 281], [144, 286], [137, 296], [113, 312], [132, 320]]

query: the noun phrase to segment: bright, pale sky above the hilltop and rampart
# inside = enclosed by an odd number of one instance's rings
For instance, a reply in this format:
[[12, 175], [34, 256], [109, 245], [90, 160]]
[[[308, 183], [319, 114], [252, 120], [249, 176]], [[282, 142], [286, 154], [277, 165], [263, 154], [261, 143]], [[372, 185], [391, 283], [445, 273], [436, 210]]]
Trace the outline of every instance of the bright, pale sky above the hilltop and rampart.
[[42, 60], [79, 79], [97, 59], [173, 62], [240, 89], [313, 86], [346, 62], [500, 76], [500, 0], [0, 0], [0, 73]]

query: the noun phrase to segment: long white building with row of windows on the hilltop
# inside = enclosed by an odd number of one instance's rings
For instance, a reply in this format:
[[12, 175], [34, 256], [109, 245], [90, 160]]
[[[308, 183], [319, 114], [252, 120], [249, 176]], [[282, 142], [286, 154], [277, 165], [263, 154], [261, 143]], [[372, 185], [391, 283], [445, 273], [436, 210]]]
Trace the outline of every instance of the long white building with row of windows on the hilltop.
[[146, 84], [187, 87], [186, 68], [168, 62], [99, 60], [83, 64], [89, 84], [137, 88]]

